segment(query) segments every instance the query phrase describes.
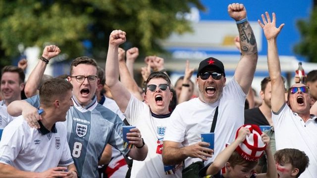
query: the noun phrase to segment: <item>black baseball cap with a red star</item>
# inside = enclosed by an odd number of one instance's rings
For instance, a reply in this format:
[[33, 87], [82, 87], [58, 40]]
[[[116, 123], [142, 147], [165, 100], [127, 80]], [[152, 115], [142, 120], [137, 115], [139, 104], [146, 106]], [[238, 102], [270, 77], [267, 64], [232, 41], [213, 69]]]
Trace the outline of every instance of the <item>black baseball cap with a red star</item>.
[[202, 70], [206, 69], [206, 68], [214, 68], [217, 70], [217, 72], [223, 74], [223, 77], [225, 77], [223, 63], [216, 58], [209, 57], [209, 58], [201, 61], [199, 63], [199, 67], [198, 67], [197, 77], [202, 72]]

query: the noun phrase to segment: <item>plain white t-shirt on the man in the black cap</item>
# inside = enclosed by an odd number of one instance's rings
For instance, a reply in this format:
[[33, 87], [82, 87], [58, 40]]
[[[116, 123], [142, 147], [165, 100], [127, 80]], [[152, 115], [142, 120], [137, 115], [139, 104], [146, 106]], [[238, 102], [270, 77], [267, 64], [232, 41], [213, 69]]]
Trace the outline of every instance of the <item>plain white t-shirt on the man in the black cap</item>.
[[[218, 107], [218, 117], [214, 130], [214, 155], [205, 161], [205, 165], [232, 142], [236, 131], [244, 123], [244, 104], [246, 94], [233, 78], [224, 88], [218, 101], [212, 104], [204, 103], [199, 98], [178, 104], [170, 116], [164, 141], [181, 143], [181, 147], [195, 144], [201, 140], [202, 133], [210, 133], [213, 115]], [[186, 158], [185, 167], [200, 158]]]

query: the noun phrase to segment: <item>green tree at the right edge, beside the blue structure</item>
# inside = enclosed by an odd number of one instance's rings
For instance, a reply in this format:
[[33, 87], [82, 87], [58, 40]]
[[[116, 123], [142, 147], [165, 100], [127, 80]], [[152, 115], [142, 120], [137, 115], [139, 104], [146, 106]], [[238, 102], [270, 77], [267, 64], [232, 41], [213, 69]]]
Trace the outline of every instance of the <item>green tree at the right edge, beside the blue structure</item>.
[[309, 20], [297, 21], [302, 41], [295, 45], [294, 52], [308, 58], [310, 62], [317, 62], [317, 7], [312, 10]]

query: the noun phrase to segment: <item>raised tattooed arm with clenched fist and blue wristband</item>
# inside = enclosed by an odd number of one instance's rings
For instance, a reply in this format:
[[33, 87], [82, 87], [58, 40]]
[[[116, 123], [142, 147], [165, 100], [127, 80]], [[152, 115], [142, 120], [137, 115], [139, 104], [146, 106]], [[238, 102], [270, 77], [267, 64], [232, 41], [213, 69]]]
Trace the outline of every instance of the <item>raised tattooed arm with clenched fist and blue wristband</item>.
[[237, 65], [234, 78], [244, 93], [248, 93], [258, 61], [258, 47], [253, 30], [247, 19], [247, 11], [243, 4], [232, 3], [228, 5], [228, 13], [238, 27], [241, 59]]

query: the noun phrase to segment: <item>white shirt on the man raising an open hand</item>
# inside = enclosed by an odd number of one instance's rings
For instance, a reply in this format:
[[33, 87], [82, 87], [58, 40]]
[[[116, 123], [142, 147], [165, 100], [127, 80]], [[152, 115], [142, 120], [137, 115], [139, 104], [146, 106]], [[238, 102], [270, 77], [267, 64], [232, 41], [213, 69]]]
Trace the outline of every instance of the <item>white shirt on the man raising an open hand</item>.
[[272, 112], [276, 150], [295, 148], [304, 151], [309, 157], [309, 166], [300, 178], [317, 176], [317, 117], [306, 123], [284, 104], [278, 113]]

